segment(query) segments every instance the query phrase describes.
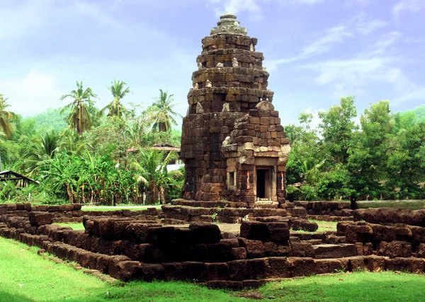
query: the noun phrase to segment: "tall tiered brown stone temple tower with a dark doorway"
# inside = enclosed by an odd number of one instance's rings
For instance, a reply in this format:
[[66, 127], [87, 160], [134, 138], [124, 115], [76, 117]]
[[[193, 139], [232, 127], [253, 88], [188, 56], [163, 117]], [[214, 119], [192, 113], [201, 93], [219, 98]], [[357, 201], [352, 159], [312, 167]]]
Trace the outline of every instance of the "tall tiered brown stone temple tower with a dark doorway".
[[289, 141], [267, 89], [257, 39], [225, 13], [202, 40], [183, 118], [183, 198], [239, 207], [285, 202]]

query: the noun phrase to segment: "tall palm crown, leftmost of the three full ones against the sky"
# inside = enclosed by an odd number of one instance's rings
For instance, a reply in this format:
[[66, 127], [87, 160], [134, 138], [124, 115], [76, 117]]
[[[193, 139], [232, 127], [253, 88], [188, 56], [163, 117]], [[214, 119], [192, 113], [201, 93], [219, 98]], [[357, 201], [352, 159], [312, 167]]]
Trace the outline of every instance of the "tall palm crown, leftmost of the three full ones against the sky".
[[83, 89], [83, 81], [77, 81], [77, 90], [71, 91], [69, 94], [64, 94], [60, 97], [60, 100], [65, 98], [72, 98], [72, 103], [64, 106], [60, 113], [68, 108], [71, 110], [67, 116], [67, 122], [71, 127], [77, 130], [79, 135], [82, 135], [84, 131], [89, 130], [93, 125], [93, 108], [94, 100], [91, 98], [97, 98], [98, 96], [91, 91], [91, 88]]

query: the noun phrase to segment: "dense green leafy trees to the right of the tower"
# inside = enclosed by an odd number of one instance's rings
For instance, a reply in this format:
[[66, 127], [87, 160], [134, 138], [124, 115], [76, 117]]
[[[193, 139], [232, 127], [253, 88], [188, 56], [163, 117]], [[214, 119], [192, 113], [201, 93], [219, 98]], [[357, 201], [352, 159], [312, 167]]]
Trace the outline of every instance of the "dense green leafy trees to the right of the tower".
[[[417, 109], [417, 108], [416, 108]], [[312, 115], [300, 115], [300, 126], [286, 132], [292, 145], [288, 158], [289, 199], [421, 199], [425, 197], [425, 124], [415, 112], [390, 112], [382, 100], [356, 117], [354, 98], [319, 112], [321, 138], [312, 131]]]

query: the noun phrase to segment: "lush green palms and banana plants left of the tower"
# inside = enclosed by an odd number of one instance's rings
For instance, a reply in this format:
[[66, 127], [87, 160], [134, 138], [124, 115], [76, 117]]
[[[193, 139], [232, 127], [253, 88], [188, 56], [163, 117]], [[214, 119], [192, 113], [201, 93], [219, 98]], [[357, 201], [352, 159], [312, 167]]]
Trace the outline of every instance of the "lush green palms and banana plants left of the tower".
[[[91, 88], [84, 89], [82, 81], [77, 82], [76, 90], [62, 95], [61, 100], [72, 100], [62, 110], [49, 109], [25, 120], [13, 114], [13, 132], [0, 139], [2, 168], [16, 170], [40, 181], [40, 185], [18, 189], [12, 183], [0, 183], [2, 199], [115, 205], [156, 202], [157, 195], [163, 203], [180, 197], [184, 173], [166, 170], [166, 164], [176, 155], [150, 151], [150, 156], [144, 157], [145, 153], [138, 150], [164, 143], [179, 146], [181, 132], [171, 128], [165, 132], [151, 130], [146, 112], [139, 112], [140, 105], [124, 108], [120, 102], [130, 92], [125, 82], [114, 80], [108, 88], [113, 101], [104, 108], [109, 110], [107, 117], [98, 117], [93, 100], [97, 96]], [[2, 100], [7, 107], [6, 98]], [[172, 95], [162, 92], [149, 114], [163, 116], [159, 113], [163, 110], [174, 115], [167, 107], [172, 105]], [[3, 113], [5, 117], [12, 115]], [[59, 113], [67, 114], [70, 127], [63, 124]], [[57, 125], [58, 121], [62, 124]], [[133, 162], [142, 168], [130, 170]], [[140, 176], [147, 183], [137, 182]], [[154, 190], [157, 194], [152, 194]]]

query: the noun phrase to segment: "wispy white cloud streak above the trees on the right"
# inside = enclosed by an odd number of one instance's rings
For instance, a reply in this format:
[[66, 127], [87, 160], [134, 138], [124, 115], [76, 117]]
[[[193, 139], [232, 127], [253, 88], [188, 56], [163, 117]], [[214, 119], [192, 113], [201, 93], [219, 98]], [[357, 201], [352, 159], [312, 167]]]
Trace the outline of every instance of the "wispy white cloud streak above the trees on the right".
[[314, 82], [320, 86], [331, 86], [336, 98], [341, 95], [363, 95], [370, 83], [383, 83], [394, 90], [393, 105], [409, 100], [425, 100], [425, 86], [419, 86], [409, 79], [399, 67], [406, 60], [391, 50], [399, 37], [397, 32], [389, 33], [350, 59], [328, 59], [304, 64], [300, 68], [313, 71], [316, 74]]

